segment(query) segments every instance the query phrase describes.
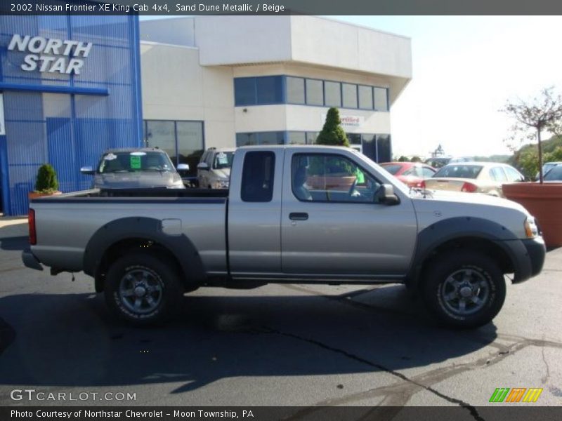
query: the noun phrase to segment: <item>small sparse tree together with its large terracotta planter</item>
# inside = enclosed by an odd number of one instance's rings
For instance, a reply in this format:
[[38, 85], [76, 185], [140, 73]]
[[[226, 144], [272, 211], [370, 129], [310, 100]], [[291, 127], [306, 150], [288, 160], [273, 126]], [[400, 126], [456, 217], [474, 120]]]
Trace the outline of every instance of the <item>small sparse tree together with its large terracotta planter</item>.
[[[540, 97], [530, 102], [507, 102], [502, 109], [511, 116], [511, 140], [537, 138], [538, 182], [518, 182], [502, 186], [507, 199], [521, 203], [537, 218], [547, 247], [562, 246], [562, 183], [543, 181], [541, 132], [557, 135], [562, 126], [562, 97], [553, 88], [544, 89]], [[521, 141], [520, 141], [521, 143]], [[534, 174], [532, 175], [534, 177]]]

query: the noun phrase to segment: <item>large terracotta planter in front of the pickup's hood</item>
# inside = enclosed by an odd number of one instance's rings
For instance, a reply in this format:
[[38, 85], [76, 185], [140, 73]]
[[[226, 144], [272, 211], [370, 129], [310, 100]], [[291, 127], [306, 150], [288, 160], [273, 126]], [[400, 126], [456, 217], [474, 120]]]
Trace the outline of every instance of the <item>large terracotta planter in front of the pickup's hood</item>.
[[547, 247], [562, 246], [562, 183], [516, 182], [502, 189], [537, 218]]

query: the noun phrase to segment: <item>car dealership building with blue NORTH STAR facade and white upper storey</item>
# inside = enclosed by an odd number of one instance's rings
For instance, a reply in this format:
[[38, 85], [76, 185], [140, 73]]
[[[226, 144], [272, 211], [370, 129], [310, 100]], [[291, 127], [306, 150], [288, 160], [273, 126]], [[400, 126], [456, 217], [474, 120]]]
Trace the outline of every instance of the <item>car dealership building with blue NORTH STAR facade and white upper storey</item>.
[[313, 16], [0, 16], [2, 210], [27, 213], [44, 162], [63, 192], [110, 147], [160, 147], [195, 175], [208, 147], [313, 143], [329, 107], [389, 161], [411, 77], [410, 39]]

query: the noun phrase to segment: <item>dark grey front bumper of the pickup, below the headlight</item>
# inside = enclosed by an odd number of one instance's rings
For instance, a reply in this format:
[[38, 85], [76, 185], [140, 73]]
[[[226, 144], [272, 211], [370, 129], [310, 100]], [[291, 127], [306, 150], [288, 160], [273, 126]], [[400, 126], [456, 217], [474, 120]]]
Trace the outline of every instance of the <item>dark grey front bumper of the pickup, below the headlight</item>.
[[[519, 241], [506, 241], [511, 243], [511, 250], [514, 252], [515, 276], [514, 283], [527, 281], [533, 276], [540, 274], [544, 258], [547, 255], [547, 248], [544, 246], [542, 236], [534, 239], [524, 239]], [[517, 246], [516, 246], [516, 243]]]

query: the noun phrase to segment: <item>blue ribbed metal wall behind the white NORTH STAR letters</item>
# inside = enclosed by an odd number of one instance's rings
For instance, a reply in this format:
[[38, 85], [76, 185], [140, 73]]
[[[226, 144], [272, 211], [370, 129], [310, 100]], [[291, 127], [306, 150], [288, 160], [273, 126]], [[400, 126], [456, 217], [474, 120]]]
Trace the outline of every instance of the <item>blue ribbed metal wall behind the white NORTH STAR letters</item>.
[[[7, 50], [13, 34], [93, 46], [79, 75], [24, 72], [20, 66], [28, 53]], [[69, 192], [91, 185], [91, 177], [79, 168], [96, 165], [104, 149], [141, 146], [139, 78], [136, 16], [0, 16], [0, 86], [16, 86], [4, 91], [6, 140], [0, 145], [0, 165], [8, 175], [2, 182], [9, 196], [4, 213], [27, 213], [27, 192], [42, 163], [55, 167], [60, 189]], [[108, 95], [18, 91], [18, 85], [94, 88]]]

